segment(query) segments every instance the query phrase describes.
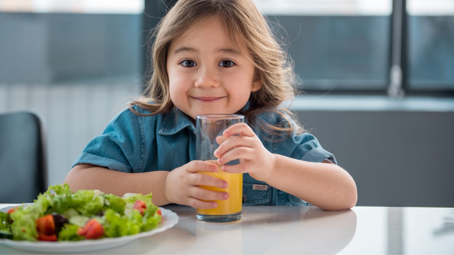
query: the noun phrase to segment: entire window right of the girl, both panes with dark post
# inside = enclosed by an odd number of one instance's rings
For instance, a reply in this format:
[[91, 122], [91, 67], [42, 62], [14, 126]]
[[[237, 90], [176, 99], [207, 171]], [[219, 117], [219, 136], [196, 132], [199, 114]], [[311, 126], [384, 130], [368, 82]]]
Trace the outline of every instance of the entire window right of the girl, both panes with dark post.
[[305, 91], [454, 92], [453, 0], [254, 0]]

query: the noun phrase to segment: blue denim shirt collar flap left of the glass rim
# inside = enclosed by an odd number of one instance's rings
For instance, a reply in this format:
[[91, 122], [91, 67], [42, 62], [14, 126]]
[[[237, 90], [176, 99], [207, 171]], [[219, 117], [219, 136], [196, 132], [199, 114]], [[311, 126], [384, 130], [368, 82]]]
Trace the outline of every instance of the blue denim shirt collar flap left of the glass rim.
[[173, 135], [180, 132], [185, 127], [188, 127], [192, 132], [196, 132], [196, 127], [194, 123], [192, 123], [190, 117], [174, 107], [170, 112], [165, 114], [158, 134]]

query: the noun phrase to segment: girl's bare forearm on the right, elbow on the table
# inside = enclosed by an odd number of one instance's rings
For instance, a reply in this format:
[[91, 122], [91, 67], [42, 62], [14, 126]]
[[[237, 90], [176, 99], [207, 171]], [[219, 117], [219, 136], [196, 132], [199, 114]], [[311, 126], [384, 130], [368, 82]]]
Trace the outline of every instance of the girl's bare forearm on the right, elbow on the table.
[[344, 210], [355, 206], [355, 181], [341, 167], [275, 156], [275, 170], [265, 180], [269, 185], [323, 210]]

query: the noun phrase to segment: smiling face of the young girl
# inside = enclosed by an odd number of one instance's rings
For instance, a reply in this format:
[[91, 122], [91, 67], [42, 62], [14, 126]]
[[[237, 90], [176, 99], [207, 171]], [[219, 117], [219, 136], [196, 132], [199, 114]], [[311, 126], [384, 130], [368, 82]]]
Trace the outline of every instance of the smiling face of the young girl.
[[[240, 41], [238, 44], [247, 53]], [[199, 114], [236, 113], [243, 108], [251, 92], [261, 86], [254, 71], [252, 60], [237, 53], [216, 16], [192, 25], [168, 50], [170, 98], [193, 119]]]

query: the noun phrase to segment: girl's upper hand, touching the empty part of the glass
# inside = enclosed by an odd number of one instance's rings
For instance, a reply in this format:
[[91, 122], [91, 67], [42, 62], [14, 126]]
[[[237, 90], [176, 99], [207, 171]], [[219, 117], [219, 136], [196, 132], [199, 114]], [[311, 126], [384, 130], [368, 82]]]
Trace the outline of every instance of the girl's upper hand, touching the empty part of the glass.
[[[238, 136], [236, 136], [239, 134]], [[225, 165], [222, 170], [230, 173], [249, 172], [254, 179], [265, 181], [271, 176], [276, 165], [274, 154], [266, 150], [260, 139], [246, 123], [238, 123], [228, 127], [223, 136], [216, 137], [219, 147], [214, 152], [218, 157], [217, 163], [225, 163], [241, 159], [241, 163], [229, 166]]]

